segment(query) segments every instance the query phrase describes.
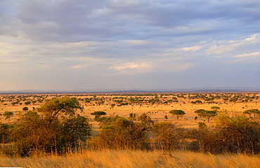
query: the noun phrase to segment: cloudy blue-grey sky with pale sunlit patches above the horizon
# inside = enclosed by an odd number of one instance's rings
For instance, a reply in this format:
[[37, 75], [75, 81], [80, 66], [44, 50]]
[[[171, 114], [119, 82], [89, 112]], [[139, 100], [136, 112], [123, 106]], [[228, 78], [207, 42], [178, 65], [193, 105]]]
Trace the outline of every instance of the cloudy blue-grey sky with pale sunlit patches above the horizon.
[[260, 87], [259, 0], [0, 0], [0, 90]]

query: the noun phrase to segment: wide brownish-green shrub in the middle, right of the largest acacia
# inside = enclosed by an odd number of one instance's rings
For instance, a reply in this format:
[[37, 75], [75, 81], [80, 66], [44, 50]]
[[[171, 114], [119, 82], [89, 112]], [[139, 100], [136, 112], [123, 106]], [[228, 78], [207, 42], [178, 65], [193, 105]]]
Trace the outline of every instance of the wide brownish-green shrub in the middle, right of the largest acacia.
[[147, 146], [146, 126], [126, 118], [110, 119], [100, 128], [100, 134], [89, 141], [91, 148], [101, 149], [144, 149]]

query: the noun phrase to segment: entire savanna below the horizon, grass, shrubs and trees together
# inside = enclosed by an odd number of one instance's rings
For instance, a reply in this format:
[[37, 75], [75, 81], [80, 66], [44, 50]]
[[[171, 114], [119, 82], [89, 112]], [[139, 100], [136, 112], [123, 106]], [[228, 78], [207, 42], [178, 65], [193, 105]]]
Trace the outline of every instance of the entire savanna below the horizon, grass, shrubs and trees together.
[[259, 96], [1, 94], [0, 167], [260, 167]]

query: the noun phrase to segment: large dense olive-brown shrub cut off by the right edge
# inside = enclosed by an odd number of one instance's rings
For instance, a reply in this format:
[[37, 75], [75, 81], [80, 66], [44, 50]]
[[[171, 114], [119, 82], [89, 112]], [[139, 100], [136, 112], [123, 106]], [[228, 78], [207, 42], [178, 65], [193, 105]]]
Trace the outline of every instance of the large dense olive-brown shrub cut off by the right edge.
[[231, 153], [260, 153], [260, 125], [249, 118], [220, 116], [216, 133], [223, 141], [223, 151]]

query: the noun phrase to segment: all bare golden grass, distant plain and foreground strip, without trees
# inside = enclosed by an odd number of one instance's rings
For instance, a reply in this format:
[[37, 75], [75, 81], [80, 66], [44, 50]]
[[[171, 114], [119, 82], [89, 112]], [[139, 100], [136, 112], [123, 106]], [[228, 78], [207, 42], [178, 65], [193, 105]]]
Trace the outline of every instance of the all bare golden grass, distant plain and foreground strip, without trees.
[[[260, 93], [256, 94], [257, 96]], [[4, 95], [0, 95], [3, 99]], [[55, 95], [46, 95], [47, 99], [55, 97]], [[81, 95], [77, 98], [90, 98], [93, 95]], [[98, 130], [98, 123], [93, 120], [93, 116], [90, 113], [93, 111], [105, 111], [110, 115], [118, 115], [128, 118], [129, 113], [136, 113], [138, 115], [142, 113], [150, 112], [150, 117], [155, 120], [163, 121], [164, 116], [168, 116], [168, 120], [181, 125], [182, 127], [197, 128], [199, 122], [204, 122], [204, 118], [198, 118], [195, 120], [197, 109], [210, 110], [212, 106], [219, 106], [221, 111], [228, 111], [230, 116], [240, 116], [242, 112], [247, 109], [260, 109], [259, 99], [253, 99], [252, 102], [227, 102], [223, 103], [223, 99], [216, 100], [216, 104], [192, 104], [191, 101], [196, 99], [184, 99], [178, 98], [179, 102], [172, 102], [170, 104], [132, 104], [127, 106], [115, 106], [111, 108], [111, 104], [115, 104], [111, 99], [113, 97], [121, 97], [120, 95], [98, 95], [97, 97], [105, 97], [105, 103], [100, 106], [95, 102], [85, 103], [81, 102], [84, 106], [84, 111], [81, 113], [83, 116], [89, 116], [91, 118], [91, 124], [93, 128]], [[126, 96], [124, 96], [126, 97]], [[153, 96], [143, 96], [145, 99], [154, 98]], [[171, 99], [169, 96], [168, 99]], [[29, 96], [33, 99], [32, 95]], [[129, 97], [126, 97], [129, 98]], [[166, 98], [160, 98], [162, 101], [167, 101]], [[25, 101], [24, 101], [25, 102]], [[0, 116], [1, 123], [13, 123], [16, 121], [22, 108], [25, 106], [24, 102], [15, 106], [11, 105], [11, 102], [0, 102], [0, 113], [4, 111], [13, 111], [14, 116], [11, 120], [5, 120], [4, 116]], [[7, 105], [4, 105], [7, 103]], [[93, 106], [93, 104], [95, 104]], [[28, 105], [28, 108], [32, 110], [32, 107], [37, 108], [41, 106], [38, 102], [36, 104]], [[186, 114], [176, 120], [176, 116], [169, 114], [170, 110], [180, 109], [186, 112]], [[211, 119], [209, 123], [205, 121], [207, 125], [213, 125], [214, 119]], [[0, 156], [0, 167], [260, 167], [260, 156], [248, 156], [248, 155], [212, 155], [209, 153], [192, 153], [186, 151], [164, 152], [164, 151], [84, 151], [77, 154], [68, 154], [65, 156], [58, 155], [35, 155], [30, 158], [7, 158]]]

